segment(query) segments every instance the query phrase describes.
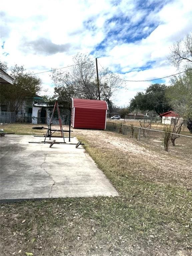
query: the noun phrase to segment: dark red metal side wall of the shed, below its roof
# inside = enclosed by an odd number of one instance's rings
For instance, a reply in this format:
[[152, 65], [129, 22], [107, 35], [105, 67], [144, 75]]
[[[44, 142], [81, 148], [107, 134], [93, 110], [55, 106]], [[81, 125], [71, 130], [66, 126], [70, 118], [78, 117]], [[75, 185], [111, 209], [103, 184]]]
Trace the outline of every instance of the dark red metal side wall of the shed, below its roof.
[[75, 108], [74, 128], [105, 129], [106, 110]]

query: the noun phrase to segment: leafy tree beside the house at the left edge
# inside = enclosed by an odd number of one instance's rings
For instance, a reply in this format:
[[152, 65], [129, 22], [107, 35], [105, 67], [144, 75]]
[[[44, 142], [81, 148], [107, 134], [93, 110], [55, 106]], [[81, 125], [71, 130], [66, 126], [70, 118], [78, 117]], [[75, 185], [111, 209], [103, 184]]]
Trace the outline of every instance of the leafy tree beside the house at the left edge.
[[41, 79], [23, 66], [15, 65], [10, 69], [10, 76], [14, 78], [13, 85], [0, 85], [1, 104], [7, 106], [7, 111], [17, 112], [24, 101], [31, 101], [36, 93], [41, 90]]

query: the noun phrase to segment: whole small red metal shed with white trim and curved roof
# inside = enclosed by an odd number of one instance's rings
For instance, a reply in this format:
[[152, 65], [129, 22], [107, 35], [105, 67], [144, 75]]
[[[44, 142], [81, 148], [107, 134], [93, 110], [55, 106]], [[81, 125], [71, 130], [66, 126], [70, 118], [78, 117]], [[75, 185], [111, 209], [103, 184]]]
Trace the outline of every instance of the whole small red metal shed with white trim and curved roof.
[[106, 128], [107, 102], [104, 100], [74, 99], [71, 102], [71, 126], [73, 128]]

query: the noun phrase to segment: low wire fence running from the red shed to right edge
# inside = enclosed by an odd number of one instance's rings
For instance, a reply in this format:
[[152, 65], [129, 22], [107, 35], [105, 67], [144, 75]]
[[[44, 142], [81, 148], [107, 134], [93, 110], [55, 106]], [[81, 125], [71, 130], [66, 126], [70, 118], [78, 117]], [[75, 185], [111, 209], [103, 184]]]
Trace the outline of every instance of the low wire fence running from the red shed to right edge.
[[[155, 130], [149, 128], [142, 128], [134, 125], [127, 125], [122, 123], [107, 122], [106, 130], [123, 134], [129, 138], [135, 139], [138, 142], [148, 144], [150, 147], [160, 147], [166, 150], [166, 138], [167, 134], [174, 135], [175, 133], [166, 132], [163, 130]], [[178, 134], [175, 134], [178, 136]], [[190, 143], [189, 143], [190, 140]], [[180, 146], [191, 146], [192, 145], [192, 135], [179, 134], [177, 139], [177, 144]], [[167, 150], [166, 150], [167, 151]]]

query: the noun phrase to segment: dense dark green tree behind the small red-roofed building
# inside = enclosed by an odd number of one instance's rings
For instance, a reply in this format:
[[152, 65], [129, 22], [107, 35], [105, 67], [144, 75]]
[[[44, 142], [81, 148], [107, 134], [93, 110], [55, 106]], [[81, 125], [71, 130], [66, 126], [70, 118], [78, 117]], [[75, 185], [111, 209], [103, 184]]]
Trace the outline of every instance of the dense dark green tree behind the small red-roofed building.
[[167, 86], [165, 84], [152, 84], [145, 92], [138, 92], [131, 99], [130, 109], [140, 109], [142, 111], [155, 111], [157, 114], [163, 114], [171, 109], [165, 92]]

